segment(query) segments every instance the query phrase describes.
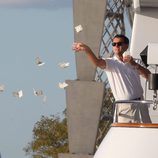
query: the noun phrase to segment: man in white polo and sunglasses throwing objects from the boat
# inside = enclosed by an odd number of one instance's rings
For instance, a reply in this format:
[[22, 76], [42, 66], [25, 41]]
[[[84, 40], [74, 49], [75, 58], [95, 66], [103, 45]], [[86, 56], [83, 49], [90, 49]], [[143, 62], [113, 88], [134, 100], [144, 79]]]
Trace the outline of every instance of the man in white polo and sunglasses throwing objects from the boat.
[[[148, 79], [150, 71], [138, 64], [132, 56], [123, 55], [129, 46], [129, 39], [126, 36], [116, 35], [113, 38], [112, 46], [114, 57], [107, 59], [97, 58], [84, 43], [74, 43], [73, 50], [85, 52], [94, 65], [105, 70], [116, 101], [141, 100], [143, 98], [143, 88], [140, 75]], [[117, 106], [116, 111], [118, 122], [151, 123], [147, 106], [122, 103]]]

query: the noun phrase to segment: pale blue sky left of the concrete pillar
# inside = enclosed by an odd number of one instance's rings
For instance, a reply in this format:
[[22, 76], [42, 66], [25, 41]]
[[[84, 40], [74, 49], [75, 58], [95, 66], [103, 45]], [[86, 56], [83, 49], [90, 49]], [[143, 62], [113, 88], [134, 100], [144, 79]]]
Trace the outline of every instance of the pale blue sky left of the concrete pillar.
[[[62, 116], [65, 90], [58, 83], [76, 79], [71, 0], [0, 0], [0, 153], [27, 158], [23, 148], [41, 116]], [[37, 66], [35, 58], [45, 64]], [[69, 62], [62, 69], [58, 63]], [[43, 90], [41, 96], [33, 94]], [[13, 96], [22, 90], [23, 97]]]

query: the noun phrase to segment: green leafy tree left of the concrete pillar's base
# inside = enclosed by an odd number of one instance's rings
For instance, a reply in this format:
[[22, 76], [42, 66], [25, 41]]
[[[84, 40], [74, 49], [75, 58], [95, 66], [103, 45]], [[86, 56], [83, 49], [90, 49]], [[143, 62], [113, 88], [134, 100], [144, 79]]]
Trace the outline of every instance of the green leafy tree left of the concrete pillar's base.
[[68, 132], [66, 118], [42, 116], [33, 128], [33, 140], [24, 148], [26, 154], [34, 158], [52, 156], [68, 152]]

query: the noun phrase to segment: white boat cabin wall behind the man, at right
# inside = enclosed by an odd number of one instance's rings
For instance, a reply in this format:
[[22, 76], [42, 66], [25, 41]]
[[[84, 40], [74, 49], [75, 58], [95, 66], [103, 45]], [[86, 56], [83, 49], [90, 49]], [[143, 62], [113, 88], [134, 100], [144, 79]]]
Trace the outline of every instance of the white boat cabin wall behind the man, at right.
[[[148, 43], [158, 43], [158, 8], [156, 8], [156, 6], [154, 8], [147, 6], [139, 8], [139, 5], [135, 4], [135, 11], [130, 52], [132, 56], [140, 58], [139, 54], [148, 45]], [[148, 68], [151, 72], [154, 72], [152, 66], [149, 66]], [[145, 90], [145, 79], [142, 78], [141, 82]], [[146, 99], [153, 99], [153, 91], [148, 90], [148, 85], [146, 91]], [[154, 121], [157, 120], [158, 122], [158, 110], [154, 111], [151, 107], [150, 113], [154, 118]]]

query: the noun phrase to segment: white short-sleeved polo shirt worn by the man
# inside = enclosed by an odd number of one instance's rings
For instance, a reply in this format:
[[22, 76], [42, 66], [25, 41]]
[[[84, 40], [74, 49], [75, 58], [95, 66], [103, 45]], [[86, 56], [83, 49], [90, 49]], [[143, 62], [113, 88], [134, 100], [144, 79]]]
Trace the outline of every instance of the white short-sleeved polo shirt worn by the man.
[[116, 100], [132, 100], [143, 96], [143, 88], [138, 71], [116, 56], [107, 58], [105, 72]]

